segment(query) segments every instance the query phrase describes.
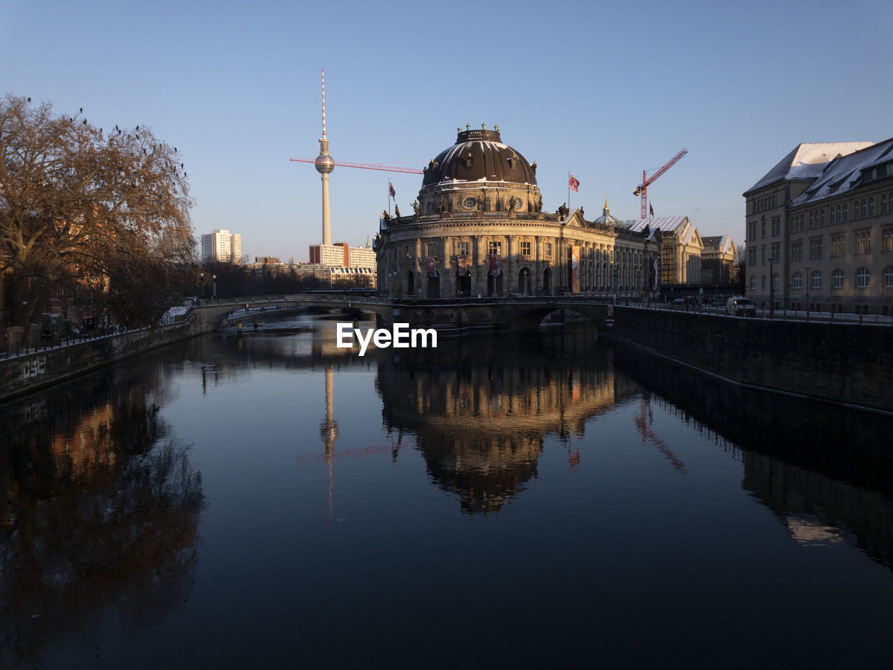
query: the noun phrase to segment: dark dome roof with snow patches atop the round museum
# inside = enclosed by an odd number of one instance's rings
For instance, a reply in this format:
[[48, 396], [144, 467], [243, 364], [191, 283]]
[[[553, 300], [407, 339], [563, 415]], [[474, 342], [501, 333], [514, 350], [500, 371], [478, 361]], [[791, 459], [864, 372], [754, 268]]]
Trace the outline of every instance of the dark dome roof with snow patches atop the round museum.
[[446, 180], [536, 185], [537, 170], [524, 156], [502, 143], [498, 126], [496, 130], [460, 130], [455, 145], [441, 151], [425, 168], [421, 186]]

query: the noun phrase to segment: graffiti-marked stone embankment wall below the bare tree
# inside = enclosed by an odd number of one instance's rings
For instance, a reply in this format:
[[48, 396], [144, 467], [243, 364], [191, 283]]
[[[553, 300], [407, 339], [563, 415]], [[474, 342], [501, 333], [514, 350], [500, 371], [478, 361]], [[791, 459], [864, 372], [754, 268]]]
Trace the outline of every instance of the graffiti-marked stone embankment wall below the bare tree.
[[171, 323], [0, 360], [0, 400], [24, 395], [196, 334], [199, 330], [192, 322]]

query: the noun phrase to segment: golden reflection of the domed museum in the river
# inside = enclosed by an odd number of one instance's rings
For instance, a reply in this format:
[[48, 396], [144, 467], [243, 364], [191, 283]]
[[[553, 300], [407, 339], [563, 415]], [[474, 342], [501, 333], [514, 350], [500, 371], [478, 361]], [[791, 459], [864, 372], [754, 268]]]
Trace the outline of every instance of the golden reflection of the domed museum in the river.
[[568, 448], [593, 416], [634, 397], [592, 334], [534, 340], [442, 342], [379, 361], [376, 386], [388, 431], [411, 432], [435, 484], [463, 512], [498, 511], [537, 477], [547, 435]]

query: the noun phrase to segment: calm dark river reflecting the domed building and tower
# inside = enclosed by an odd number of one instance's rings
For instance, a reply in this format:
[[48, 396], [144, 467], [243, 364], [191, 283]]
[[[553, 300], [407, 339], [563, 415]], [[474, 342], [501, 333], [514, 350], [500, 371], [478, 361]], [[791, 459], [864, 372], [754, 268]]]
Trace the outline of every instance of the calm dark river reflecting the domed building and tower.
[[893, 419], [585, 331], [335, 326], [0, 405], [0, 666], [893, 666]]

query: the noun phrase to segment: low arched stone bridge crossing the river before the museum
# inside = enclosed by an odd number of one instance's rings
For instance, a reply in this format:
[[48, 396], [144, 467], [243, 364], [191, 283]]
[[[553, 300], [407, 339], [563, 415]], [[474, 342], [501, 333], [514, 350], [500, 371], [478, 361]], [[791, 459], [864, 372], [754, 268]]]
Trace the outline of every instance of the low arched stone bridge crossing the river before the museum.
[[397, 299], [338, 293], [298, 293], [288, 296], [234, 297], [203, 300], [195, 307], [196, 323], [203, 332], [236, 322], [251, 322], [303, 308], [341, 309], [347, 313], [375, 314], [381, 327], [394, 322], [435, 328], [447, 334], [469, 331], [520, 331], [536, 328], [559, 310], [570, 310], [605, 325], [609, 300], [593, 296], [517, 296], [479, 298]]

